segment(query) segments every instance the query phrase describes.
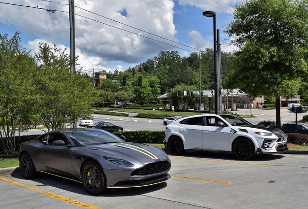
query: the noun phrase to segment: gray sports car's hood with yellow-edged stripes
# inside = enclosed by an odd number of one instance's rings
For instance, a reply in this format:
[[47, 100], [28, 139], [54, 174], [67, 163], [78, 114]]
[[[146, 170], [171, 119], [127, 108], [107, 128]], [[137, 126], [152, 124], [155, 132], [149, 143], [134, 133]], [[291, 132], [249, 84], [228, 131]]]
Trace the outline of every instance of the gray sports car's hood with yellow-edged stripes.
[[119, 142], [84, 148], [90, 149], [96, 154], [125, 159], [133, 164], [136, 164], [138, 161], [144, 164], [165, 160], [170, 162], [168, 155], [162, 149], [139, 143]]

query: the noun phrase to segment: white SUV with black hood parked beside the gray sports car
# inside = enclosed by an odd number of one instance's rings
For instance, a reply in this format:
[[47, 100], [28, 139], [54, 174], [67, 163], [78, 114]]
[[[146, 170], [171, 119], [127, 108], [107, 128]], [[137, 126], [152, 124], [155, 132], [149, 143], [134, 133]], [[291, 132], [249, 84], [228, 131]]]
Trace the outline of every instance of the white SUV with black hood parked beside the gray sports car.
[[288, 150], [280, 129], [252, 125], [235, 115], [207, 114], [178, 119], [165, 130], [165, 148], [173, 155], [186, 150], [232, 152], [240, 160]]

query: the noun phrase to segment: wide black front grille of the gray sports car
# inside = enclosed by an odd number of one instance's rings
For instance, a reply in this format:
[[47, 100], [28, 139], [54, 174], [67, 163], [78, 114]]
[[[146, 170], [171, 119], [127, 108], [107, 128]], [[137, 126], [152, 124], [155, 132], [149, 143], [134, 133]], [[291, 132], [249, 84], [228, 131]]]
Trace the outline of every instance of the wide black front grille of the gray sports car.
[[131, 176], [142, 176], [142, 175], [149, 175], [155, 174], [159, 172], [163, 172], [168, 170], [171, 167], [171, 164], [168, 161], [161, 161], [152, 164], [147, 164], [146, 166], [134, 170], [131, 173]]

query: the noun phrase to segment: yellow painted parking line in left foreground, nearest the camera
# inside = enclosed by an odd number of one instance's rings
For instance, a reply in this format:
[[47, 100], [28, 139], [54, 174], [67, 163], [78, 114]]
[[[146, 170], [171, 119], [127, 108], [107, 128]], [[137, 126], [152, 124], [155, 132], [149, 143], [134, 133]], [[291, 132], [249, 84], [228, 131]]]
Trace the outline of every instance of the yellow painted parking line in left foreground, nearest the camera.
[[87, 209], [101, 209], [101, 208], [98, 208], [98, 207], [95, 207], [95, 206], [92, 206], [92, 205], [88, 205], [88, 204], [85, 204], [85, 203], [82, 203], [82, 202], [78, 202], [76, 200], [72, 200], [72, 199], [69, 199], [69, 198], [66, 198], [66, 197], [62, 197], [62, 196], [57, 195], [57, 194], [52, 194], [52, 193], [46, 192], [44, 190], [37, 189], [35, 187], [31, 187], [31, 186], [28, 186], [26, 184], [19, 183], [17, 181], [13, 181], [13, 180], [2, 178], [2, 177], [0, 177], [0, 179], [8, 181], [10, 183], [14, 183], [14, 184], [16, 184], [18, 186], [25, 187], [27, 189], [30, 189], [30, 190], [34, 191], [34, 192], [37, 192], [37, 193], [40, 193], [40, 194], [45, 194], [45, 195], [50, 196], [52, 198], [55, 198], [55, 199], [58, 199], [58, 200], [61, 200], [61, 201], [64, 201], [64, 202], [68, 202], [68, 203], [71, 203], [71, 204], [74, 204], [74, 205], [77, 205], [77, 206], [80, 206], [80, 207], [83, 207], [83, 208], [87, 208]]

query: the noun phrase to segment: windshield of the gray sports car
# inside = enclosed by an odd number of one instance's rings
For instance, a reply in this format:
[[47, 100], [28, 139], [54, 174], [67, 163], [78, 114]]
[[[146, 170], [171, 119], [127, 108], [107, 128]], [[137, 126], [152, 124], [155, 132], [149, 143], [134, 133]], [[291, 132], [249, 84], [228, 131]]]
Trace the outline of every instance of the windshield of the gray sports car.
[[103, 130], [76, 130], [67, 133], [77, 147], [115, 142], [125, 142], [118, 136]]

